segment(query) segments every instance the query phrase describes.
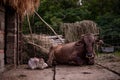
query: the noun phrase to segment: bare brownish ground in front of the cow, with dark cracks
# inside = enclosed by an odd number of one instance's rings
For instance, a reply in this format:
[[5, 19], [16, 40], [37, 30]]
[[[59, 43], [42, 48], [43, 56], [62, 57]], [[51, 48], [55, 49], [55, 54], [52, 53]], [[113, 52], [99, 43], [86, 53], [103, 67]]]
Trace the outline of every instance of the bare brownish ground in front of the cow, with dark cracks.
[[[101, 54], [96, 63], [120, 73], [120, 57]], [[30, 70], [27, 65], [0, 74], [0, 80], [120, 80], [117, 75], [97, 64], [92, 66], [57, 65], [55, 68]]]

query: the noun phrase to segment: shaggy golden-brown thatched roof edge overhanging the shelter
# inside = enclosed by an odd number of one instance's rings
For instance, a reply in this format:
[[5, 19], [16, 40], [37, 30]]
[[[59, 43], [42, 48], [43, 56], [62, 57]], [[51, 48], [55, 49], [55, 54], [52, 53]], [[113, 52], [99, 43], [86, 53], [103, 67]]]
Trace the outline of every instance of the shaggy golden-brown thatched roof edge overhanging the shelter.
[[20, 15], [31, 14], [39, 7], [40, 0], [0, 0], [0, 3], [9, 5]]

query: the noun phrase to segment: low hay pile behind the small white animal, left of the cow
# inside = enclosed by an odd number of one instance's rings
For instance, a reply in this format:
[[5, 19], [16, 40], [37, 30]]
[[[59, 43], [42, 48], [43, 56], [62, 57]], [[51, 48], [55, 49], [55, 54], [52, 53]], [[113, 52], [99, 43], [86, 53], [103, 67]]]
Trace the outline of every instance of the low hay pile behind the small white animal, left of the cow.
[[[48, 59], [48, 52], [51, 46], [56, 46], [60, 44], [57, 36], [49, 36], [45, 34], [32, 34], [31, 35], [22, 35], [23, 36], [23, 52], [22, 52], [22, 61], [27, 63], [27, 61], [34, 56], [42, 57], [45, 61]], [[61, 35], [58, 35], [62, 37]], [[55, 40], [54, 40], [55, 39]]]

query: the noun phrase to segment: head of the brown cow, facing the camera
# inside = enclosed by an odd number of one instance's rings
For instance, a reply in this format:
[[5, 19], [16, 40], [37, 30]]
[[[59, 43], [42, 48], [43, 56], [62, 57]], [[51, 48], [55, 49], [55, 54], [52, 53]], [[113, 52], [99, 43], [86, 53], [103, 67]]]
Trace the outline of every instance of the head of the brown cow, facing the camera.
[[94, 44], [100, 43], [100, 40], [98, 40], [96, 35], [92, 33], [82, 35], [81, 40], [85, 44], [86, 58], [88, 59], [88, 64], [94, 64]]

